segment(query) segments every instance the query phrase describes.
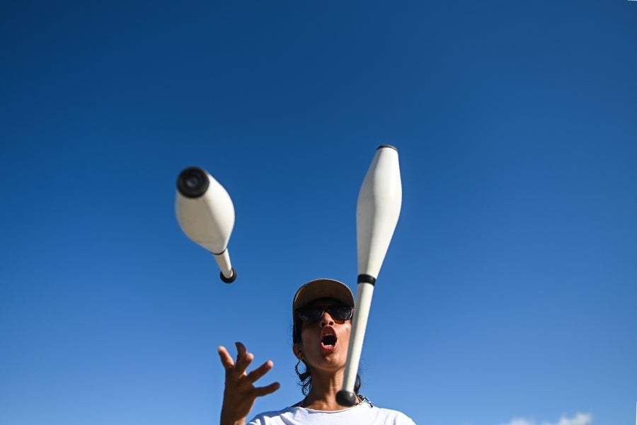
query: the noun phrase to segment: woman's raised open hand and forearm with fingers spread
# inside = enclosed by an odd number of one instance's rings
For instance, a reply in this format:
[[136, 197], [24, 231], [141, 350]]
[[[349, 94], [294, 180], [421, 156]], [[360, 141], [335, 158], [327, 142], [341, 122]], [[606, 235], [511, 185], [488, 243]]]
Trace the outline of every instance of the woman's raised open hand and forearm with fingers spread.
[[279, 389], [279, 382], [272, 382], [265, 387], [255, 387], [256, 382], [268, 373], [274, 365], [268, 360], [250, 373], [246, 373], [248, 365], [254, 360], [241, 342], [236, 342], [236, 362], [224, 346], [219, 346], [219, 357], [226, 370], [224, 403], [221, 413], [221, 425], [245, 424], [256, 397], [272, 394]]

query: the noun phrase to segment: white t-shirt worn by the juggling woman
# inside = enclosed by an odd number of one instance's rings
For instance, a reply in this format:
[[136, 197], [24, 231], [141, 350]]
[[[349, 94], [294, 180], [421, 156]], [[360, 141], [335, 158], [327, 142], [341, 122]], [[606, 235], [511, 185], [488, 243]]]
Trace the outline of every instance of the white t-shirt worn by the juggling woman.
[[367, 403], [326, 412], [305, 407], [286, 407], [278, 412], [258, 414], [248, 425], [415, 425], [409, 416], [396, 410], [372, 407]]

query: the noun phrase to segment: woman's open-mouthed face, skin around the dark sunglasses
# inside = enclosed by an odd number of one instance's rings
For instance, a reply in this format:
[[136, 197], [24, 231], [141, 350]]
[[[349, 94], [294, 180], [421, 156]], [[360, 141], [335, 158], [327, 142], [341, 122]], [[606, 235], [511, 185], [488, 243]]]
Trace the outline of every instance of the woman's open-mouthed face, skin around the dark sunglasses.
[[330, 307], [342, 306], [335, 300], [316, 300], [308, 305], [324, 307], [325, 311], [318, 321], [302, 323], [301, 342], [294, 345], [297, 357], [309, 363], [313, 374], [318, 370], [334, 372], [345, 367], [352, 321], [335, 319], [327, 311]]

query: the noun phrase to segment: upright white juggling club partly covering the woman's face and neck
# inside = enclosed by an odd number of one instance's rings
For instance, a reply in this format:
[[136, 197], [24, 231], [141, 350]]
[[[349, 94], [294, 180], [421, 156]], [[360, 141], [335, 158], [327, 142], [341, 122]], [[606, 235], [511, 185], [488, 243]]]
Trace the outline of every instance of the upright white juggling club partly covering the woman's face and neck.
[[336, 393], [336, 401], [342, 406], [353, 406], [356, 402], [354, 384], [374, 284], [394, 236], [402, 201], [398, 150], [390, 145], [381, 145], [365, 174], [356, 205], [358, 284], [343, 390]]

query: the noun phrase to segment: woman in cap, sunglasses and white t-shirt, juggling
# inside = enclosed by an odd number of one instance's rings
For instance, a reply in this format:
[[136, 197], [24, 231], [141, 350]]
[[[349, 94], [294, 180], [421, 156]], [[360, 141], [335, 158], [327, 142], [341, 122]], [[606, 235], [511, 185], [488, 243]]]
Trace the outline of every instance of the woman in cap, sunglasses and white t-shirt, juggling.
[[[299, 359], [297, 374], [306, 397], [292, 407], [259, 414], [250, 424], [415, 425], [401, 412], [372, 406], [362, 395], [357, 396], [354, 407], [343, 408], [336, 402], [336, 392], [343, 386], [353, 307], [352, 291], [338, 280], [311, 280], [297, 290], [292, 302], [292, 351]], [[272, 361], [246, 373], [254, 356], [240, 342], [236, 348], [235, 362], [226, 348], [219, 347], [226, 370], [222, 425], [245, 424], [256, 397], [271, 394], [280, 387], [278, 382], [255, 387], [256, 380], [272, 368]], [[301, 363], [304, 372], [299, 371]], [[359, 387], [357, 379], [355, 392]]]

